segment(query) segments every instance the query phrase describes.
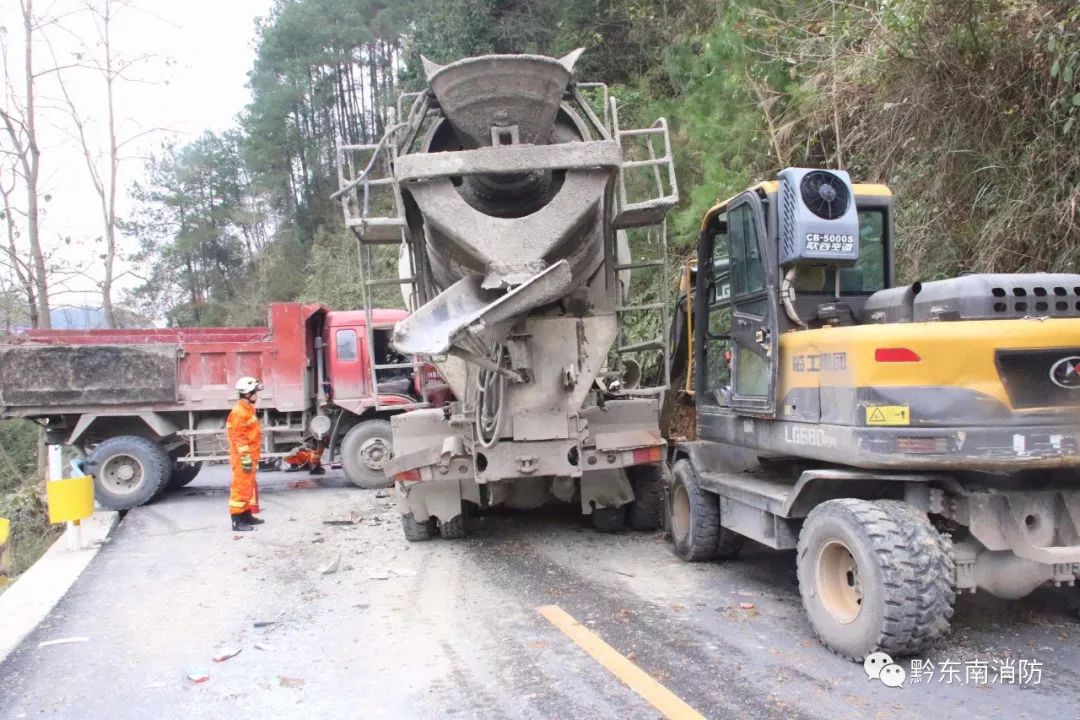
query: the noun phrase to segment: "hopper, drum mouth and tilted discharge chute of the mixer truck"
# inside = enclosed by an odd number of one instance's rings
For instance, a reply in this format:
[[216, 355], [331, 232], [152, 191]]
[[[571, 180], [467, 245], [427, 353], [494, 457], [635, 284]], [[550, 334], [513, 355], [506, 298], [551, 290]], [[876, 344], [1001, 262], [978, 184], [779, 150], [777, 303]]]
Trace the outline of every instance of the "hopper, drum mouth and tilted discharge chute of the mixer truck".
[[[403, 190], [422, 217], [431, 281], [443, 291], [399, 325], [400, 351], [448, 352], [460, 345], [467, 324], [490, 328], [565, 297], [596, 275], [604, 262], [605, 198], [615, 165], [597, 161], [558, 168], [543, 157], [545, 147], [591, 139], [564, 104], [579, 54], [557, 60], [489, 55], [447, 66], [424, 62], [444, 118], [428, 132], [422, 152], [407, 157], [420, 177]], [[504, 172], [419, 173], [424, 154], [437, 161], [440, 153], [469, 151], [491, 153]]]

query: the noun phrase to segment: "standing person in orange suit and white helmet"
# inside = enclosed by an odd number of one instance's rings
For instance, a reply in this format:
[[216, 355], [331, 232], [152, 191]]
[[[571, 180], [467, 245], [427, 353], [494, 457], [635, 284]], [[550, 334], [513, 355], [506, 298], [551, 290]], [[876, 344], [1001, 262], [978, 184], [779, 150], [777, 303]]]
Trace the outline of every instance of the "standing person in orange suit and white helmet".
[[259, 489], [255, 483], [255, 468], [259, 462], [259, 446], [262, 429], [255, 411], [255, 402], [262, 390], [256, 378], [241, 378], [237, 381], [240, 399], [229, 413], [225, 432], [229, 438], [229, 465], [232, 466], [232, 485], [229, 489], [229, 515], [232, 529], [238, 532], [252, 530], [252, 526], [262, 525], [255, 517], [259, 512]]

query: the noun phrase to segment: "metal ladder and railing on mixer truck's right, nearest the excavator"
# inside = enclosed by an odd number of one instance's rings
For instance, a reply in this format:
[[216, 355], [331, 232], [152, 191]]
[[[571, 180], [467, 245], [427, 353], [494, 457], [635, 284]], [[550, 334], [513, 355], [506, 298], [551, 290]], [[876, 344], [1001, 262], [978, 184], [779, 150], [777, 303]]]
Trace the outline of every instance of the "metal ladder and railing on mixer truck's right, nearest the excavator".
[[[615, 394], [626, 396], [654, 396], [660, 395], [667, 389], [667, 378], [671, 373], [671, 353], [667, 341], [670, 283], [667, 272], [667, 212], [678, 203], [678, 185], [675, 178], [675, 164], [672, 158], [671, 136], [667, 132], [667, 121], [661, 118], [651, 127], [640, 130], [622, 130], [619, 126], [619, 108], [615, 98], [610, 98], [610, 112], [608, 117], [611, 123], [612, 139], [619, 142], [624, 157], [632, 158], [633, 153], [627, 153], [626, 140], [644, 141], [644, 148], [648, 153], [647, 158], [634, 160], [623, 160], [619, 166], [616, 190], [616, 213], [612, 219], [612, 227], [617, 231], [644, 231], [647, 233], [645, 245], [653, 248], [651, 256], [633, 257], [633, 246], [631, 246], [631, 258], [626, 262], [620, 262], [618, 258], [618, 246], [611, 248], [611, 257], [615, 259], [613, 271], [616, 279], [616, 317], [619, 325], [619, 335], [616, 345], [612, 349], [613, 364], [620, 377], [625, 377], [625, 359], [629, 355], [640, 355], [643, 353], [659, 354], [661, 377], [660, 382], [647, 386], [620, 389]], [[661, 151], [654, 142], [659, 140], [662, 145]], [[627, 178], [634, 173], [647, 174], [647, 184], [650, 192], [645, 200], [631, 202], [626, 185]], [[666, 187], [665, 187], [666, 180]], [[616, 235], [618, 236], [618, 234]], [[660, 273], [659, 300], [651, 298], [636, 298], [632, 293], [632, 281], [624, 286], [620, 280], [620, 273], [633, 272], [635, 270], [654, 270]], [[627, 338], [629, 323], [632, 315], [651, 313], [652, 325], [658, 327], [658, 336], [647, 340], [631, 342]], [[638, 366], [644, 365], [638, 363]]]

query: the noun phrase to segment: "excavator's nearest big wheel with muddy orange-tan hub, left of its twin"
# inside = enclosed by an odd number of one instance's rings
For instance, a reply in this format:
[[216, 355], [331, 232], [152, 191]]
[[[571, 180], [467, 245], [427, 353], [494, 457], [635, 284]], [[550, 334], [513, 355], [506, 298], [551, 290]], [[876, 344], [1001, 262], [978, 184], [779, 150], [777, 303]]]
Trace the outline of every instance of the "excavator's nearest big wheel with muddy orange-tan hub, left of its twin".
[[[861, 661], [883, 651], [912, 651], [920, 597], [937, 578], [917, 575], [915, 536], [895, 508], [867, 500], [829, 500], [814, 507], [799, 533], [802, 606], [821, 641]], [[929, 552], [929, 551], [928, 551]]]

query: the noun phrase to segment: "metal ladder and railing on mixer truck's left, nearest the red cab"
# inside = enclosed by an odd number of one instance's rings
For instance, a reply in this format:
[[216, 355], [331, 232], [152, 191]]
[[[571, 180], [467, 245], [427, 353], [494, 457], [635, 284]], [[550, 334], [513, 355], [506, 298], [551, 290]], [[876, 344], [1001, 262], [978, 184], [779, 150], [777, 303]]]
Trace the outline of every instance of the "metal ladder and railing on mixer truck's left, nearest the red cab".
[[[418, 97], [421, 94], [410, 95]], [[340, 201], [346, 227], [355, 233], [359, 243], [361, 298], [364, 303], [364, 326], [367, 335], [367, 367], [374, 395], [372, 408], [375, 410], [414, 410], [431, 407], [431, 403], [427, 402], [429, 393], [445, 384], [434, 366], [428, 363], [422, 363], [418, 358], [407, 363], [386, 363], [381, 362], [382, 358], [377, 357], [375, 352], [375, 332], [393, 330], [396, 324], [376, 321], [376, 290], [397, 286], [403, 290], [402, 301], [409, 312], [424, 300], [420, 293], [420, 271], [423, 268], [422, 263], [427, 261], [423, 239], [421, 236], [418, 241], [414, 241], [413, 233], [409, 232], [401, 185], [390, 169], [397, 158], [399, 136], [404, 132], [406, 138], [415, 137], [416, 128], [413, 127], [413, 123], [423, 121], [422, 116], [414, 117], [417, 105], [414, 106], [414, 112], [406, 122], [388, 128], [378, 142], [347, 145], [339, 139], [337, 144], [338, 191], [332, 195], [332, 200]], [[426, 114], [427, 110], [424, 104], [421, 112]], [[363, 169], [357, 172], [362, 164]], [[379, 193], [383, 195], [383, 200], [389, 195], [393, 204], [392, 209], [388, 207], [381, 215], [376, 214], [377, 210], [372, 206], [373, 195]], [[393, 246], [397, 247], [396, 257], [386, 252]], [[407, 258], [407, 266], [410, 269], [405, 276], [399, 274], [403, 258]], [[424, 398], [422, 402], [400, 395], [384, 396], [378, 392], [380, 372], [406, 368], [420, 378], [420, 397]]]

